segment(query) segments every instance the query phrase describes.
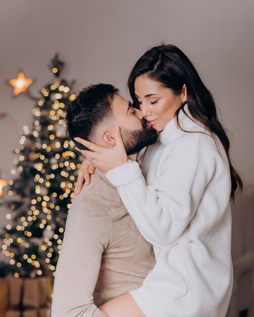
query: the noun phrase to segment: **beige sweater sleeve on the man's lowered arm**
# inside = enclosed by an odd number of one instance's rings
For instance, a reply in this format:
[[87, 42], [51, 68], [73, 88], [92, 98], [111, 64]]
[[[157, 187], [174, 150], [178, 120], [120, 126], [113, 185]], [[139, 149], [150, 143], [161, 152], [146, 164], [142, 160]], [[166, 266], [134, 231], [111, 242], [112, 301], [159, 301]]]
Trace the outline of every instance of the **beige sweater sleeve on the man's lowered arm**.
[[[112, 222], [97, 201], [74, 203], [68, 214], [56, 268], [52, 317], [106, 317], [93, 301], [102, 253]], [[88, 208], [90, 207], [91, 208]]]

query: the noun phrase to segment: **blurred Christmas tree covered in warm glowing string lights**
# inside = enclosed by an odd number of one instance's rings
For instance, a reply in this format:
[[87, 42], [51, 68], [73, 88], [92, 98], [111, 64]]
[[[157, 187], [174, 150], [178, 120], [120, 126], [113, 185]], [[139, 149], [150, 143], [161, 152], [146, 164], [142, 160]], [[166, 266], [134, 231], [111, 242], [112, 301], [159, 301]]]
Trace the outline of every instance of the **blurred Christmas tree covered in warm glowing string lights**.
[[10, 258], [10, 264], [2, 263], [3, 275], [55, 275], [80, 165], [74, 143], [65, 136], [64, 108], [76, 95], [71, 92], [74, 82], [60, 78], [63, 66], [57, 54], [50, 65], [54, 80], [41, 89], [32, 128], [24, 126], [15, 149], [11, 173], [17, 176], [9, 181], [10, 197], [4, 203], [12, 224], [0, 236], [2, 253]]

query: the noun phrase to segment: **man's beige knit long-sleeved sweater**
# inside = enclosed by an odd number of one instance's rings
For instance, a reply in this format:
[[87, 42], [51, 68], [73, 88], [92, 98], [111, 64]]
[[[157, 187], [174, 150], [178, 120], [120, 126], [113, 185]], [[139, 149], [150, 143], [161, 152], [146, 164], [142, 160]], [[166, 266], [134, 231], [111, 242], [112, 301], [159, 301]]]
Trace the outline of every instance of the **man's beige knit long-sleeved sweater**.
[[140, 287], [154, 264], [152, 246], [116, 188], [96, 170], [69, 210], [52, 317], [105, 316], [97, 307]]

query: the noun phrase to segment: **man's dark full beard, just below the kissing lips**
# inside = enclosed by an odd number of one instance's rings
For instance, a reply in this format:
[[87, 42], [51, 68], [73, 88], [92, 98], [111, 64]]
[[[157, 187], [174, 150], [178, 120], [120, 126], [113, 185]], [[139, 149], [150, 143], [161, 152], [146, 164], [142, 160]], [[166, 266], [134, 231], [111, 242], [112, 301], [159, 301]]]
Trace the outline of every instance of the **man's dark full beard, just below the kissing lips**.
[[158, 139], [158, 133], [142, 119], [142, 129], [122, 130], [122, 141], [127, 155], [138, 153], [147, 145], [153, 144]]

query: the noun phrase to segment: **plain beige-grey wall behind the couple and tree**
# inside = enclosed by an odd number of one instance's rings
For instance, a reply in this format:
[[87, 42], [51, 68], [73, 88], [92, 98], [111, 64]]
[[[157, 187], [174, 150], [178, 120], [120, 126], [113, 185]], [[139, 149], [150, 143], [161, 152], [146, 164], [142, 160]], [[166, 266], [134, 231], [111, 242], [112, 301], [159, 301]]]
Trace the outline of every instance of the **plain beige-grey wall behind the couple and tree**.
[[[0, 1], [0, 170], [11, 178], [12, 153], [33, 102], [12, 98], [7, 78], [22, 67], [36, 78], [36, 95], [52, 79], [56, 52], [76, 91], [112, 83], [126, 93], [126, 78], [138, 57], [161, 41], [179, 46], [214, 93], [232, 133], [231, 155], [244, 181], [254, 184], [254, 2], [252, 0], [11, 0]], [[251, 144], [252, 141], [252, 144]], [[0, 222], [7, 223], [0, 209]]]

